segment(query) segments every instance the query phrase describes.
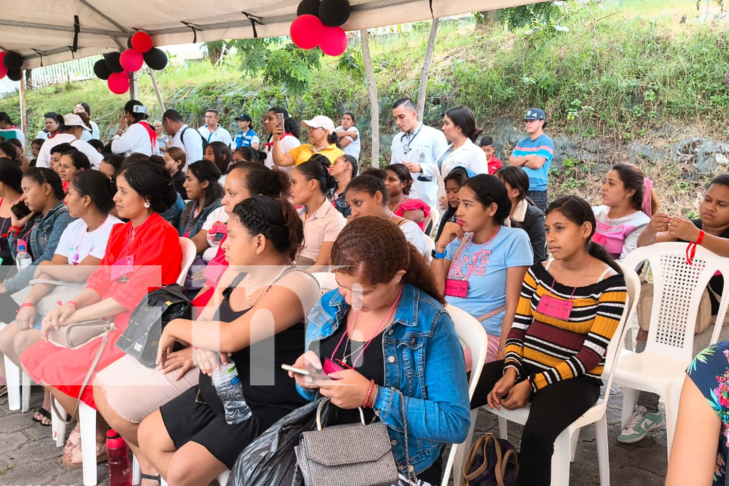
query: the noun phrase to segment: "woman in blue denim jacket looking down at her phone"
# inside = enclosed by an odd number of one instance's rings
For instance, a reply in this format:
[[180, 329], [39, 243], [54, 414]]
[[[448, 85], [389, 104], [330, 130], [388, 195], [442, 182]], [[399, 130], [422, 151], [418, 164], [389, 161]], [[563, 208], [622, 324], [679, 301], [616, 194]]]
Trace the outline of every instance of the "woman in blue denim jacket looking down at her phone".
[[463, 351], [425, 259], [397, 226], [363, 216], [340, 232], [332, 264], [338, 289], [309, 314], [295, 367], [336, 381], [295, 375], [299, 393], [330, 398], [328, 425], [359, 422], [363, 407], [387, 426], [399, 484], [438, 484], [443, 445], [466, 439], [470, 413]]

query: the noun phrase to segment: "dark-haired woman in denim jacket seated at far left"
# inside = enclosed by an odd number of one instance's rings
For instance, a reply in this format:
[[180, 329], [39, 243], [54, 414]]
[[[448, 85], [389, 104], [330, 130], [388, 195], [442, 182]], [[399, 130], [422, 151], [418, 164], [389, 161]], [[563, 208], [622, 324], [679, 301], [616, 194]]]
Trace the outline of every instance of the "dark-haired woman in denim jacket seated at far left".
[[[28, 209], [36, 213], [34, 219], [26, 222], [30, 224], [31, 230], [30, 240], [26, 241], [28, 248], [26, 250], [33, 256], [33, 263], [28, 267], [20, 270], [4, 283], [0, 283], [0, 294], [13, 294], [28, 285], [36, 271], [36, 266], [40, 262], [53, 258], [55, 247], [58, 246], [58, 240], [61, 239], [63, 230], [74, 218], [69, 216], [69, 210], [63, 204], [63, 184], [61, 178], [54, 171], [47, 168], [31, 167], [23, 174], [21, 182], [23, 188], [23, 202], [26, 203]], [[10, 245], [12, 256], [17, 256], [17, 238], [16, 233], [8, 235], [8, 243]], [[6, 303], [9, 299], [2, 298], [0, 302]], [[7, 306], [4, 305], [7, 309]], [[12, 308], [15, 309], [15, 303]], [[10, 322], [14, 319], [11, 318]]]

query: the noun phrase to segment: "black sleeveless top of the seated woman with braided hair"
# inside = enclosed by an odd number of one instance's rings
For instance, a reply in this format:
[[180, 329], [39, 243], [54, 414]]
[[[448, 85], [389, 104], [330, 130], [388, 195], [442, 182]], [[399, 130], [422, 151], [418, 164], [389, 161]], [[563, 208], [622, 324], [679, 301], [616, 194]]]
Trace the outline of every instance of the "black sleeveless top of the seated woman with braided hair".
[[[230, 294], [245, 276], [245, 273], [238, 275], [230, 287], [223, 291], [225, 298], [218, 307], [217, 320], [233, 322], [250, 310], [236, 311], [230, 308]], [[273, 423], [281, 418], [282, 409], [288, 413], [308, 403], [296, 391], [295, 380], [289, 378], [289, 373], [281, 369], [281, 364], [293, 364], [302, 355], [304, 338], [304, 323], [298, 322], [273, 337], [255, 343], [253, 353], [249, 347], [235, 351], [230, 356], [230, 359], [235, 361], [235, 368], [238, 369], [246, 403], [251, 407], [253, 415], [261, 418], [264, 423]], [[200, 395], [212, 409], [220, 415], [225, 415], [225, 409], [211, 377], [202, 372], [200, 372]]]

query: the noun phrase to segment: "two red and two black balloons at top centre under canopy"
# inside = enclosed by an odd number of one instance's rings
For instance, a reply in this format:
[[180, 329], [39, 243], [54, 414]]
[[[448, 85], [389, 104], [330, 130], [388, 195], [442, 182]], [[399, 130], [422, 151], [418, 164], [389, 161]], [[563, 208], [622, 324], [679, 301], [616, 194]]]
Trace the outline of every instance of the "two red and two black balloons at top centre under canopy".
[[297, 47], [319, 46], [327, 55], [347, 50], [347, 34], [341, 26], [351, 13], [347, 0], [302, 0], [291, 23], [291, 40]]

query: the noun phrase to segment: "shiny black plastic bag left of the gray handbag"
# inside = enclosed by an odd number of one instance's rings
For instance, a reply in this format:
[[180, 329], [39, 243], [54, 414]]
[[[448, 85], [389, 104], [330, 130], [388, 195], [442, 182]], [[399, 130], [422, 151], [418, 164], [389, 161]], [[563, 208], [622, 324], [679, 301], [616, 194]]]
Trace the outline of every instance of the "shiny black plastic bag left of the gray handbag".
[[[320, 401], [295, 409], [249, 444], [235, 460], [227, 486], [291, 486], [296, 470], [294, 447], [302, 432], [316, 428]], [[301, 474], [297, 484], [303, 484]]]

